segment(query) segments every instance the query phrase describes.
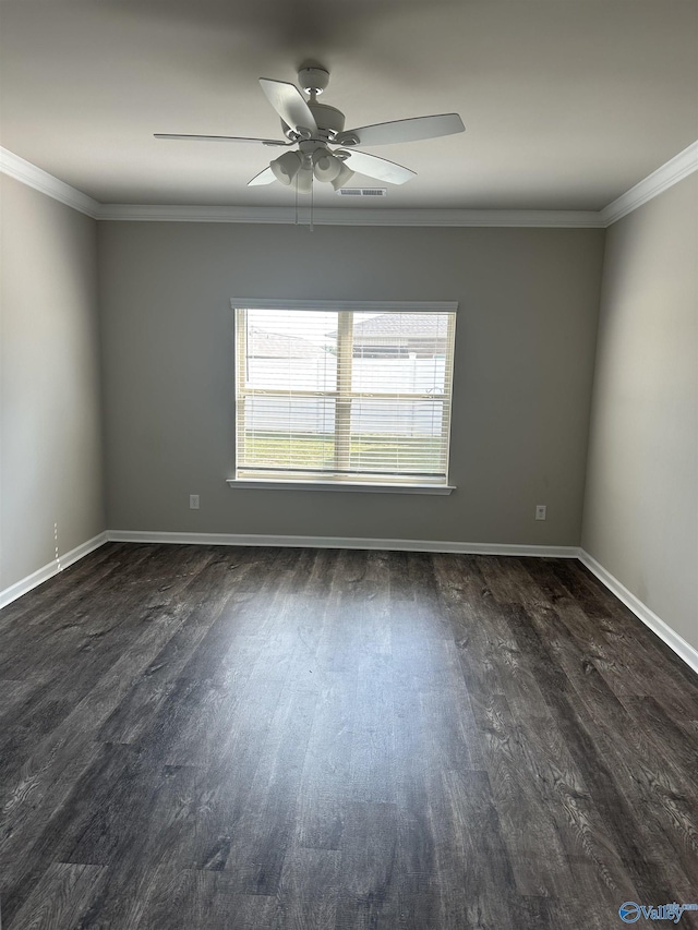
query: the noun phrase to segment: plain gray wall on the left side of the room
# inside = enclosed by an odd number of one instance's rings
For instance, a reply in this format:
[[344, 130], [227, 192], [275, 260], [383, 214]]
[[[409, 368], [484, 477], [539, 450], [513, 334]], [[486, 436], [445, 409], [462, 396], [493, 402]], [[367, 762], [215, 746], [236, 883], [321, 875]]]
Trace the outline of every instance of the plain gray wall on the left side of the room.
[[1, 591], [105, 520], [96, 222], [0, 184]]

